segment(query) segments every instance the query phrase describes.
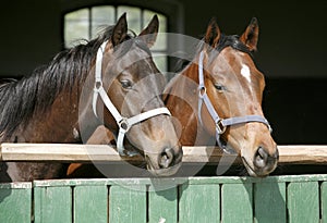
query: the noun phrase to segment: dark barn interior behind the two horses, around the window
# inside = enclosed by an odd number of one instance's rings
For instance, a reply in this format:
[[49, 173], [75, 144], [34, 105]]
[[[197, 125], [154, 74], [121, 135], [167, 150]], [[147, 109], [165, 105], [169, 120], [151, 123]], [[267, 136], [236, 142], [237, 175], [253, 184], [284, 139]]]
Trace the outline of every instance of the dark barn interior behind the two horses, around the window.
[[327, 3], [307, 1], [34, 0], [1, 8], [0, 77], [21, 77], [63, 49], [63, 15], [92, 5], [130, 5], [167, 17], [167, 30], [199, 37], [213, 16], [226, 34], [259, 23], [257, 67], [264, 112], [278, 144], [327, 144]]

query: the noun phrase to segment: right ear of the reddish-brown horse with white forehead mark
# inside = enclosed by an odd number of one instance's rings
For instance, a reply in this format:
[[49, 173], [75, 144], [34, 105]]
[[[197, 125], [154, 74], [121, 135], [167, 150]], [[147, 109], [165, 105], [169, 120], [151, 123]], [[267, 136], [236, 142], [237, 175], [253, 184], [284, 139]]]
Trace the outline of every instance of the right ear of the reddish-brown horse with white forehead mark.
[[256, 17], [253, 17], [245, 32], [240, 37], [240, 40], [249, 47], [250, 51], [256, 50], [258, 40], [258, 23]]

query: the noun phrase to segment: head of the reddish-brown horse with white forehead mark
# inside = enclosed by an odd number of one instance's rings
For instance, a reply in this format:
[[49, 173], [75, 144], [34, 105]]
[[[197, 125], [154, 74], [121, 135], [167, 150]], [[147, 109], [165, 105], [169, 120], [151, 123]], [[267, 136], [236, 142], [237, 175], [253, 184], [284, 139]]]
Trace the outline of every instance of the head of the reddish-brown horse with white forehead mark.
[[[278, 150], [262, 109], [265, 78], [252, 57], [257, 40], [256, 18], [240, 37], [225, 36], [216, 20], [210, 21], [199, 59], [199, 94], [206, 91], [213, 108], [203, 106], [201, 116], [207, 132], [217, 136], [218, 145], [231, 147], [241, 156], [250, 175], [265, 176], [275, 170]], [[218, 117], [213, 116], [215, 112]]]

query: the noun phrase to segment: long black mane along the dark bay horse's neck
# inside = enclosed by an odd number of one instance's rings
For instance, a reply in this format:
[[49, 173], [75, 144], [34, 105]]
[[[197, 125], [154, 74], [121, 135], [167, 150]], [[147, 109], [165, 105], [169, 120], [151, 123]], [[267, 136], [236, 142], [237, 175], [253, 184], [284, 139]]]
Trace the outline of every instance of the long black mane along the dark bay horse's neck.
[[[36, 112], [51, 108], [59, 92], [83, 83], [98, 48], [111, 34], [112, 27], [108, 27], [86, 45], [61, 51], [29, 76], [0, 82], [0, 137], [8, 139], [20, 125], [26, 126]], [[126, 39], [131, 38], [126, 35]]]

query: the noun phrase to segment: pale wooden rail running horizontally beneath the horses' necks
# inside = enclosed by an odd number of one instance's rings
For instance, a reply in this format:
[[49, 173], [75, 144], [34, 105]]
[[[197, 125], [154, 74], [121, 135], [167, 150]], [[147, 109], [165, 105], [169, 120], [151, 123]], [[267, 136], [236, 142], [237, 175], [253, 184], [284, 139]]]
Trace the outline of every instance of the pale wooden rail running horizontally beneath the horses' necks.
[[[279, 164], [326, 164], [327, 145], [278, 146]], [[143, 162], [141, 156], [121, 157], [108, 145], [72, 144], [1, 144], [2, 161], [58, 162]], [[183, 147], [185, 163], [218, 163], [222, 160], [241, 162], [237, 156], [226, 154], [215, 147]], [[222, 159], [223, 158], [223, 159]]]

